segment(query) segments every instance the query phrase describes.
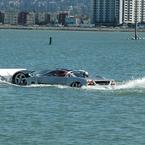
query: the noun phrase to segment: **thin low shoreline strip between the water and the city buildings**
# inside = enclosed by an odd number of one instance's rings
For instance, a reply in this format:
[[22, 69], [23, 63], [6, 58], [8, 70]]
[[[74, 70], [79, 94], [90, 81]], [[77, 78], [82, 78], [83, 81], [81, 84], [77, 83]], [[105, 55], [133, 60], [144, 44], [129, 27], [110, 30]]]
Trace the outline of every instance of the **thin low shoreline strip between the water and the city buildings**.
[[[50, 30], [50, 31], [90, 31], [90, 32], [134, 32], [134, 28], [120, 27], [48, 27], [48, 26], [19, 26], [19, 25], [0, 25], [0, 29], [16, 30]], [[145, 32], [144, 29], [138, 29], [138, 32]]]

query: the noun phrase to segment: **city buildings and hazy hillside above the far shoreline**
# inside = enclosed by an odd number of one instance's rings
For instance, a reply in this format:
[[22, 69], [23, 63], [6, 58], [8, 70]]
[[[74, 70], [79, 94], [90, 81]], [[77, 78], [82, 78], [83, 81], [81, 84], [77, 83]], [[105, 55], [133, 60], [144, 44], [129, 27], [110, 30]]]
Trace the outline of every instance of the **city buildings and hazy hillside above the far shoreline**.
[[[19, 1], [19, 2], [18, 2]], [[69, 1], [69, 0], [68, 0]], [[25, 5], [23, 5], [25, 3]], [[0, 2], [0, 24], [53, 27], [135, 25], [145, 27], [145, 0], [6, 0]], [[24, 6], [24, 8], [23, 8]], [[60, 9], [61, 8], [61, 9]]]

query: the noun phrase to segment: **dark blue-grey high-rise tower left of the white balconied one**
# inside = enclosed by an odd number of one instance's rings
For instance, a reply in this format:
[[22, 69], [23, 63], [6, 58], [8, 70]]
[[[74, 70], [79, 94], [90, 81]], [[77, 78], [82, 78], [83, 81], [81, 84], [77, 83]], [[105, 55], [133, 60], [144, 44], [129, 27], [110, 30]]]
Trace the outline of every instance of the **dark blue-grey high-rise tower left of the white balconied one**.
[[92, 0], [92, 22], [95, 25], [122, 23], [122, 0]]

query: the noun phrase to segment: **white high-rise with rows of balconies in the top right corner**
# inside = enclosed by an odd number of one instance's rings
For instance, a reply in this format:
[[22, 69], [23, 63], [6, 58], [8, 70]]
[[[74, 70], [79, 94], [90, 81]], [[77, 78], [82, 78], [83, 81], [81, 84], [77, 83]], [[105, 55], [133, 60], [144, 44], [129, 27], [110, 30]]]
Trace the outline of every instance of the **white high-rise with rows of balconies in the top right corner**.
[[124, 0], [124, 23], [145, 22], [145, 0]]

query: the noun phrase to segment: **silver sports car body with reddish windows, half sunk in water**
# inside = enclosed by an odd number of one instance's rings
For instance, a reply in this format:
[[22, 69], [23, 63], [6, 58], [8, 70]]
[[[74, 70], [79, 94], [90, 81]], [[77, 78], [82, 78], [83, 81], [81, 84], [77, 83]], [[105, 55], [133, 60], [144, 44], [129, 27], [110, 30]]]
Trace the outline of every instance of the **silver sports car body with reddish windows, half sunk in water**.
[[81, 87], [87, 85], [87, 80], [77, 76], [73, 71], [67, 69], [56, 69], [53, 71], [44, 70], [34, 72], [32, 76], [36, 78], [38, 84], [67, 85]]

